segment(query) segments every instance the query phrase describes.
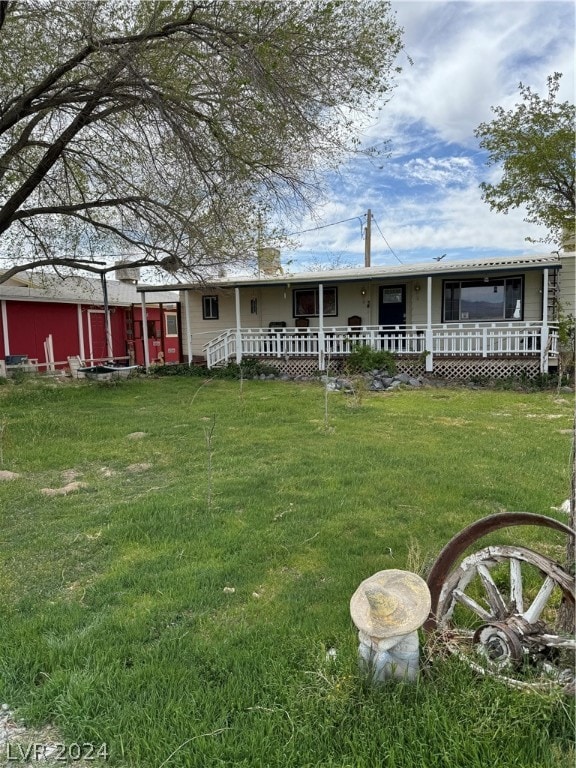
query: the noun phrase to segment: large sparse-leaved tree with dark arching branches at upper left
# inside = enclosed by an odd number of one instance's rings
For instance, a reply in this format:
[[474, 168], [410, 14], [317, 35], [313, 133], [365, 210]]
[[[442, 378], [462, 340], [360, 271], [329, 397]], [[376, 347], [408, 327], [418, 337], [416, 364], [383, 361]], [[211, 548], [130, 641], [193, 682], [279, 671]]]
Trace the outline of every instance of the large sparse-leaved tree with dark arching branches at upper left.
[[0, 10], [0, 282], [112, 256], [202, 277], [253, 254], [259, 222], [360, 149], [402, 47], [384, 0]]

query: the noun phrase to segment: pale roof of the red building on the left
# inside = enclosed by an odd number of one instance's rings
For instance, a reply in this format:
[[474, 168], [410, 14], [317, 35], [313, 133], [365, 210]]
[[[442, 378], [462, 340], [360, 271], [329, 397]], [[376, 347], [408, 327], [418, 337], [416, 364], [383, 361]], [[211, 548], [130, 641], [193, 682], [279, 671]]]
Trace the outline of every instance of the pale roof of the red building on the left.
[[[110, 306], [131, 306], [142, 301], [134, 283], [107, 279], [106, 288]], [[100, 278], [77, 275], [65, 278], [48, 275], [35, 277], [27, 273], [20, 273], [16, 280], [0, 284], [0, 299], [98, 305], [104, 301]], [[178, 300], [178, 294], [168, 290], [159, 291], [154, 297], [158, 304], [176, 304]]]

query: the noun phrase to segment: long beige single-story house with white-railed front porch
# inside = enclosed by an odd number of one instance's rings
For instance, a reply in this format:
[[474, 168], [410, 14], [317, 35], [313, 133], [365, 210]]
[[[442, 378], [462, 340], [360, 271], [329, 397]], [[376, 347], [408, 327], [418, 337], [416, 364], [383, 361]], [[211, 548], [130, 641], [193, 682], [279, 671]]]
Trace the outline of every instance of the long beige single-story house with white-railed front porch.
[[[546, 372], [558, 319], [576, 314], [574, 253], [288, 273], [179, 285], [183, 356], [259, 358], [292, 374], [337, 369], [354, 345], [446, 378]], [[138, 286], [154, 300], [168, 286]]]

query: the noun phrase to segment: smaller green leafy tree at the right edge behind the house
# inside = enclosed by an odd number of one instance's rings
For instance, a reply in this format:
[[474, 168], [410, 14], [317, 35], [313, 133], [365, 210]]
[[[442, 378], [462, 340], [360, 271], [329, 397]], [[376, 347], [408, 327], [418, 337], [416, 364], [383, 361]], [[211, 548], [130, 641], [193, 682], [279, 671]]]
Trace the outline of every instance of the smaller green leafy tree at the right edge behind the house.
[[[522, 103], [505, 111], [492, 107], [496, 119], [475, 131], [488, 151], [488, 165], [502, 164], [498, 184], [482, 183], [482, 195], [492, 210], [508, 213], [526, 206], [525, 221], [541, 224], [549, 234], [540, 242], [574, 242], [574, 104], [557, 103], [562, 75], [548, 78], [548, 95], [541, 98], [520, 83]], [[530, 239], [530, 238], [527, 238]]]

